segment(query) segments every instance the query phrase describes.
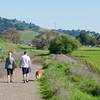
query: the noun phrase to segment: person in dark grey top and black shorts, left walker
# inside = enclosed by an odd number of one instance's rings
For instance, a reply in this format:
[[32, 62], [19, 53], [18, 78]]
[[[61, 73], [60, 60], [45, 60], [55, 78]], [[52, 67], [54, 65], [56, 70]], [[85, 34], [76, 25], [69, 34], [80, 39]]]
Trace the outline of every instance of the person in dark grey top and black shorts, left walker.
[[12, 52], [8, 52], [8, 57], [5, 61], [5, 69], [7, 70], [7, 82], [12, 82], [13, 70], [15, 69], [15, 59], [12, 57]]

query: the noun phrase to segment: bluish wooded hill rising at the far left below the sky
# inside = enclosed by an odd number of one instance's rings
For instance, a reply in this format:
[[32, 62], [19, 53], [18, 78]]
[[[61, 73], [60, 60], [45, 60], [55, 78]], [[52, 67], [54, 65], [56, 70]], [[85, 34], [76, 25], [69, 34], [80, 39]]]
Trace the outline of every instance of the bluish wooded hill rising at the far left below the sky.
[[9, 28], [16, 28], [19, 31], [32, 30], [36, 32], [40, 29], [39, 26], [32, 23], [26, 23], [25, 21], [19, 21], [17, 19], [6, 19], [0, 17], [0, 32], [4, 32]]

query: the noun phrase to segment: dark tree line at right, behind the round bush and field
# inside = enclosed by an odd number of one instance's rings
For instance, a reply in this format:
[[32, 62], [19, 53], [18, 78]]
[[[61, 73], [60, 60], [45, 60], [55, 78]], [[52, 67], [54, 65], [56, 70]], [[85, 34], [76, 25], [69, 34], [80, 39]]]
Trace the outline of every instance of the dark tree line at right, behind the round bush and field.
[[86, 30], [52, 30], [58, 33], [64, 33], [71, 35], [78, 39], [82, 45], [85, 46], [99, 46], [100, 45], [100, 34], [94, 31]]

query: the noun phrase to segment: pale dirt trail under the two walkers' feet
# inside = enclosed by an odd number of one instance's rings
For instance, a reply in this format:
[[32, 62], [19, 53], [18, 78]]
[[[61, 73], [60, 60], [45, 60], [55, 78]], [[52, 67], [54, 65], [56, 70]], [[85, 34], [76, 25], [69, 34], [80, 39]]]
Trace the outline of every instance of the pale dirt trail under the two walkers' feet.
[[29, 83], [22, 83], [21, 69], [14, 71], [13, 83], [7, 83], [6, 76], [0, 78], [0, 100], [42, 100], [39, 92], [39, 84], [35, 80], [34, 72], [36, 67], [32, 66]]

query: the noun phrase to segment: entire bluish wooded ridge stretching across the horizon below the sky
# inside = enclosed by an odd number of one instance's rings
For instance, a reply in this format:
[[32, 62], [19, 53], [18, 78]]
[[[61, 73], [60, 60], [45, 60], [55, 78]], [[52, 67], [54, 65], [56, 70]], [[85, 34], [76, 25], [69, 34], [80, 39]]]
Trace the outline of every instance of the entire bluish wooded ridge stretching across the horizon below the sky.
[[[24, 31], [24, 30], [31, 30], [34, 32], [44, 32], [44, 31], [51, 31], [48, 29], [43, 29], [39, 27], [38, 25], [35, 25], [33, 23], [26, 23], [25, 21], [19, 21], [17, 19], [6, 19], [0, 17], [0, 32], [4, 32], [8, 30], [9, 28], [16, 28], [18, 31]], [[86, 31], [86, 30], [63, 30], [63, 29], [58, 29], [58, 30], [52, 30], [53, 32], [57, 33], [65, 33], [69, 34], [72, 36], [78, 36], [82, 31], [86, 32], [87, 34], [99, 34], [94, 31]]]

